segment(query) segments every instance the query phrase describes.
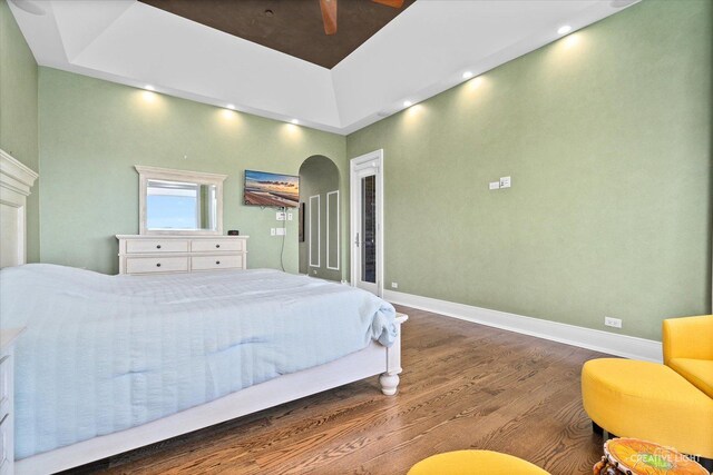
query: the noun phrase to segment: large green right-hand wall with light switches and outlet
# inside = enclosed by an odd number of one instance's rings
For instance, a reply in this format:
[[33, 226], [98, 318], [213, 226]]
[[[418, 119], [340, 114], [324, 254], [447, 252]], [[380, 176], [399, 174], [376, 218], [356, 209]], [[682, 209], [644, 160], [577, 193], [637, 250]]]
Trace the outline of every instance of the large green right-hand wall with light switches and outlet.
[[710, 313], [712, 6], [645, 0], [350, 135], [384, 149], [385, 287], [654, 339]]

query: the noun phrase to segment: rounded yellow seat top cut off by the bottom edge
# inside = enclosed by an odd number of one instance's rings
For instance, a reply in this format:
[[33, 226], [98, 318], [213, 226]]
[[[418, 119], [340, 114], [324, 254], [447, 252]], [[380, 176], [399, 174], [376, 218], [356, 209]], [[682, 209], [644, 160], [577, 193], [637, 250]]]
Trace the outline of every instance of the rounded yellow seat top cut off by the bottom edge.
[[456, 451], [433, 455], [413, 465], [408, 475], [549, 475], [512, 455], [490, 451]]

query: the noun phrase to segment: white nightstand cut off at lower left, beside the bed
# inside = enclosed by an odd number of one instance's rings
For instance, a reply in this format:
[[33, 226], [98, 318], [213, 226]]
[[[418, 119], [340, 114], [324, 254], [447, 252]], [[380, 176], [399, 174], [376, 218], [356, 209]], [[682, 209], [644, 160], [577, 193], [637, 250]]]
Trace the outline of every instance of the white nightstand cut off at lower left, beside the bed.
[[0, 330], [0, 475], [11, 475], [14, 465], [14, 340], [25, 328]]

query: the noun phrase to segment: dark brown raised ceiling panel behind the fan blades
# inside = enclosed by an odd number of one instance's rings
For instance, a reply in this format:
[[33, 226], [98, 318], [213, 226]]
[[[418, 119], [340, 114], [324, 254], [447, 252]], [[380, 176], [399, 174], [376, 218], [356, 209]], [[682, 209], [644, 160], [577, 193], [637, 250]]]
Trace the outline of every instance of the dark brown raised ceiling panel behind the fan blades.
[[371, 0], [338, 3], [336, 34], [324, 34], [320, 0], [140, 0], [228, 34], [332, 69], [414, 0], [390, 8]]

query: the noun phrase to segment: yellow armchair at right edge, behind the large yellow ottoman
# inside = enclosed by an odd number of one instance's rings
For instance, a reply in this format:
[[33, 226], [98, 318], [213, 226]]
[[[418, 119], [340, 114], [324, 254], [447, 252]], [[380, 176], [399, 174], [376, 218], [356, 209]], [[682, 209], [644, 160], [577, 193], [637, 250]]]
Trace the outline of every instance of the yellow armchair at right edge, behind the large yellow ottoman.
[[713, 398], [713, 315], [664, 320], [663, 349], [666, 366]]

